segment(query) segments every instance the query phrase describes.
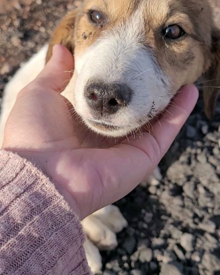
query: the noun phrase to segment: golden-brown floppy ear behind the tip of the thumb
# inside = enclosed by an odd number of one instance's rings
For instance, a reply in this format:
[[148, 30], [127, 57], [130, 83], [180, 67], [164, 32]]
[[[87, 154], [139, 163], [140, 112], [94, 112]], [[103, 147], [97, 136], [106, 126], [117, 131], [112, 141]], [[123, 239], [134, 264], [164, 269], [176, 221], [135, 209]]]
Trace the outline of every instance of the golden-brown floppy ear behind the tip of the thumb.
[[46, 55], [46, 63], [52, 56], [53, 46], [56, 44], [64, 45], [71, 53], [74, 52], [74, 27], [78, 9], [67, 13], [61, 20], [60, 24], [53, 31], [50, 39], [49, 48]]

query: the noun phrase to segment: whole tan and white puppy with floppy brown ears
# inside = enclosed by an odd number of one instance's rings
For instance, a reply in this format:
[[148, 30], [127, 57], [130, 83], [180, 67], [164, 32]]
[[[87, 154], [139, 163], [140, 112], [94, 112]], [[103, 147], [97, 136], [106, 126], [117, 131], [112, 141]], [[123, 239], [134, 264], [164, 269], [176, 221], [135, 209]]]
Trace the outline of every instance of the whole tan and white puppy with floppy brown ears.
[[[68, 13], [45, 46], [5, 88], [1, 139], [18, 91], [50, 60], [55, 44], [73, 54], [75, 72], [63, 95], [85, 125], [98, 134], [132, 134], [167, 107], [185, 84], [204, 82], [204, 109], [214, 114], [220, 86], [220, 31], [207, 0], [85, 0]], [[31, 73], [30, 73], [31, 72]], [[157, 184], [158, 170], [151, 181]], [[97, 249], [117, 245], [127, 226], [115, 206], [82, 221], [92, 272], [101, 269]], [[92, 241], [92, 242], [91, 242]], [[97, 246], [94, 246], [94, 244]]]

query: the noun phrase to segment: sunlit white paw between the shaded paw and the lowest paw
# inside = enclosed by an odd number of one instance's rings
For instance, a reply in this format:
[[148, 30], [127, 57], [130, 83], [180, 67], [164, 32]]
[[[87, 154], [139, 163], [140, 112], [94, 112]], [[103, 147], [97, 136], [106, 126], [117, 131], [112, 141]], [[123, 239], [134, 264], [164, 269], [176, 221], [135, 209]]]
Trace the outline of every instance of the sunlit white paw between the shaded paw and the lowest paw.
[[101, 250], [112, 250], [118, 245], [116, 234], [94, 215], [82, 221], [86, 236]]

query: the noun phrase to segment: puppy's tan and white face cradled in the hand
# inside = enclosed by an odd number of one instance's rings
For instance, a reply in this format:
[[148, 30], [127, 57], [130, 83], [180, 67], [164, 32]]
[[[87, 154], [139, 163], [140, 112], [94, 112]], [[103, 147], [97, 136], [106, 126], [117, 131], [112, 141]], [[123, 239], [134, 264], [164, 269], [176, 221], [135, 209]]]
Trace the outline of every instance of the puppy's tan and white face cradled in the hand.
[[89, 128], [127, 135], [207, 71], [211, 12], [206, 2], [84, 2], [74, 28], [66, 26], [72, 30], [65, 39], [75, 58], [68, 99]]

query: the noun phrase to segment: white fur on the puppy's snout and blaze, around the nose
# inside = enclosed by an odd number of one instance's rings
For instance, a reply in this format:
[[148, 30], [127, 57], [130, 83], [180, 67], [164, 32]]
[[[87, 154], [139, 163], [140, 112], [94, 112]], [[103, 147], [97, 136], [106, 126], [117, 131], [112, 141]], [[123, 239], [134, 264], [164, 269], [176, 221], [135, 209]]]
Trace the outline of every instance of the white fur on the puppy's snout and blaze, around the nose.
[[[81, 56], [75, 57], [78, 78], [75, 85], [74, 107], [88, 127], [108, 136], [124, 136], [141, 127], [169, 103], [169, 79], [158, 67], [153, 53], [142, 44], [142, 18], [137, 15], [124, 25], [106, 31]], [[133, 90], [127, 107], [103, 118], [103, 122], [120, 127], [99, 130], [90, 124], [92, 110], [84, 97], [88, 81], [125, 83]]]

